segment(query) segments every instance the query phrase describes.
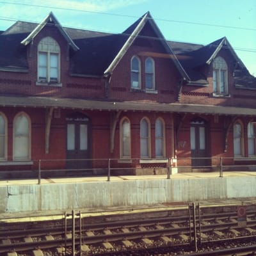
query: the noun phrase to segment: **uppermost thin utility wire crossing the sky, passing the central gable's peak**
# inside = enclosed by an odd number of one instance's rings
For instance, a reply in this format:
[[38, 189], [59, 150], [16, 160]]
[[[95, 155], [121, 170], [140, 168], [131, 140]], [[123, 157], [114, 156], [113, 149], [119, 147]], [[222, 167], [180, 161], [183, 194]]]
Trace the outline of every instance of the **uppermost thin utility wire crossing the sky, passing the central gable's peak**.
[[[8, 1], [0, 1], [0, 3], [3, 3], [3, 4], [14, 4], [14, 5], [18, 5], [19, 4], [19, 5], [23, 5], [23, 6], [29, 6], [29, 7], [34, 6], [34, 7], [40, 7], [40, 8], [51, 8], [51, 9], [56, 9], [56, 10], [67, 10], [67, 11], [76, 11], [76, 12], [95, 13], [95, 14], [101, 14], [101, 15], [129, 17], [129, 18], [136, 18], [136, 19], [140, 18], [140, 17], [136, 17], [136, 16], [133, 16], [133, 15], [122, 15], [122, 14], [116, 14], [116, 13], [79, 10], [79, 9], [64, 8], [64, 7], [58, 7], [58, 6], [44, 6], [44, 5], [40, 5], [40, 4], [26, 4], [26, 3], [17, 3], [17, 2], [12, 3], [12, 2], [8, 2]], [[177, 22], [177, 23], [184, 23], [184, 24], [193, 24], [193, 25], [200, 25], [200, 26], [212, 26], [212, 27], [218, 27], [218, 28], [242, 29], [242, 30], [256, 31], [256, 28], [242, 28], [242, 27], [235, 27], [235, 26], [207, 24], [207, 23], [202, 23], [202, 22], [190, 22], [190, 21], [184, 21], [184, 20], [168, 20], [168, 19], [159, 19], [159, 18], [156, 18], [154, 20], [165, 21], [165, 22]]]

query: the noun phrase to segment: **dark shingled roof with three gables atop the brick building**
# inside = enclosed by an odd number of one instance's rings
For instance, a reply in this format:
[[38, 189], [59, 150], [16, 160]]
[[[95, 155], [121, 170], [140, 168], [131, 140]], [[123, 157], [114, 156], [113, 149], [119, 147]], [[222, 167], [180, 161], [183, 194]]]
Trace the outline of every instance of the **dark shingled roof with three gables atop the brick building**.
[[[50, 13], [49, 15], [53, 15]], [[156, 31], [157, 36], [162, 36], [150, 13], [136, 20], [129, 28], [120, 34], [100, 33], [83, 29], [62, 28], [67, 33], [68, 40], [72, 40], [79, 49], [70, 49], [70, 74], [76, 76], [104, 76], [120, 50], [124, 47], [129, 36], [141, 24], [141, 20], [147, 20], [148, 24]], [[47, 19], [46, 21], [47, 22]], [[58, 21], [56, 21], [58, 22]], [[59, 25], [59, 24], [57, 24]], [[20, 44], [38, 24], [31, 22], [17, 21], [9, 29], [0, 33], [0, 69], [12, 69], [13, 71], [27, 72], [28, 61], [26, 60], [26, 46]], [[64, 33], [64, 34], [65, 34]], [[65, 34], [66, 35], [66, 34]], [[69, 38], [70, 37], [70, 38]], [[67, 38], [66, 38], [67, 39]], [[236, 53], [227, 41], [227, 38], [220, 38], [209, 45], [188, 44], [182, 42], [166, 42], [163, 44], [166, 52], [174, 53], [175, 65], [181, 74], [190, 83], [207, 84], [207, 77], [200, 72], [205, 63], [211, 63], [214, 54], [225, 44], [225, 47], [233, 54], [237, 63], [240, 63], [235, 70], [235, 78], [239, 86], [255, 88], [255, 77], [250, 76], [248, 70], [236, 56]], [[167, 47], [166, 47], [167, 45]], [[115, 65], [113, 65], [115, 67]]]

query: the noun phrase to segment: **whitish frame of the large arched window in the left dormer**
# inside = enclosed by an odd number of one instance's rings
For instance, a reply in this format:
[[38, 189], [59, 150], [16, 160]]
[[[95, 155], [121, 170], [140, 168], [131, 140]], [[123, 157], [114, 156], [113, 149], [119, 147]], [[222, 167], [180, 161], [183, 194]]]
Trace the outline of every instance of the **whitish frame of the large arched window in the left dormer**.
[[[46, 56], [45, 63], [40, 64], [40, 58]], [[56, 58], [57, 56], [57, 58]], [[52, 66], [52, 60], [56, 59], [56, 65]], [[38, 56], [37, 56], [37, 85], [51, 85], [61, 86], [60, 83], [60, 45], [56, 40], [50, 36], [42, 38], [38, 44]], [[42, 69], [45, 69], [45, 77], [40, 77]], [[54, 71], [56, 76], [51, 77], [51, 73]]]

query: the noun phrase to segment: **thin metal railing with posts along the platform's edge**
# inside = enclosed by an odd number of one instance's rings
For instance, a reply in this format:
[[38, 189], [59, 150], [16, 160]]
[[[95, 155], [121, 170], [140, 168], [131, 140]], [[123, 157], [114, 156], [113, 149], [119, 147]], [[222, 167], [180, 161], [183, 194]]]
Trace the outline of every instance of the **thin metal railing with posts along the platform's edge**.
[[[196, 169], [209, 171], [218, 171], [218, 177], [223, 177], [223, 172], [227, 170], [256, 171], [256, 157], [169, 157], [161, 159], [36, 159], [29, 161], [30, 170], [24, 169], [26, 162], [10, 164], [0, 162], [0, 179], [19, 179], [36, 177], [38, 184], [41, 184], [43, 176], [46, 177], [67, 177], [67, 176], [102, 176], [106, 177], [106, 181], [110, 181], [111, 177], [116, 175], [135, 175], [140, 172], [142, 175], [159, 174], [157, 170], [164, 170], [162, 174], [166, 175], [166, 179], [170, 179], [173, 173], [179, 172], [195, 172]], [[74, 165], [72, 167], [72, 164]], [[76, 167], [76, 164], [81, 167]], [[84, 164], [84, 167], [83, 167]], [[67, 166], [69, 167], [67, 168]], [[15, 168], [13, 170], [13, 166]], [[71, 166], [71, 167], [70, 167]], [[5, 167], [5, 168], [4, 168]], [[176, 169], [175, 169], [176, 168]], [[150, 170], [147, 173], [146, 170]], [[175, 170], [175, 172], [174, 172]], [[197, 171], [198, 171], [197, 170]], [[25, 175], [24, 173], [27, 173]], [[32, 173], [32, 174], [31, 174]], [[5, 176], [4, 176], [5, 174]], [[54, 174], [54, 175], [53, 175]]]

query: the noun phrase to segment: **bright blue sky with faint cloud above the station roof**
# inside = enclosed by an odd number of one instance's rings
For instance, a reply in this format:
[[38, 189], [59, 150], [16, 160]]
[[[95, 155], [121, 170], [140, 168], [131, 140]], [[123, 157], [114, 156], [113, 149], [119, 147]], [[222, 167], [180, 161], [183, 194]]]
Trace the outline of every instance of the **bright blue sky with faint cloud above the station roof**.
[[121, 33], [148, 11], [166, 40], [206, 45], [226, 36], [256, 76], [255, 0], [0, 0], [0, 30], [53, 12], [62, 26]]

